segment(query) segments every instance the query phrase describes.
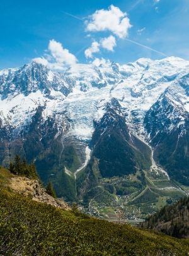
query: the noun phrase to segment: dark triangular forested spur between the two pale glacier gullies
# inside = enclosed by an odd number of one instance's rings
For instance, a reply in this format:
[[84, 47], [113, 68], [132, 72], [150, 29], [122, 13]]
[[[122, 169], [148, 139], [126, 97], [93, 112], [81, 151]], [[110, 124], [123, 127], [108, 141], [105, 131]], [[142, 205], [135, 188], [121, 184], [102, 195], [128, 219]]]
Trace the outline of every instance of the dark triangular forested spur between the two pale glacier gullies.
[[105, 109], [91, 139], [93, 155], [100, 159], [103, 177], [136, 173], [137, 168], [149, 169], [150, 149], [134, 135], [130, 135], [117, 99], [112, 99]]

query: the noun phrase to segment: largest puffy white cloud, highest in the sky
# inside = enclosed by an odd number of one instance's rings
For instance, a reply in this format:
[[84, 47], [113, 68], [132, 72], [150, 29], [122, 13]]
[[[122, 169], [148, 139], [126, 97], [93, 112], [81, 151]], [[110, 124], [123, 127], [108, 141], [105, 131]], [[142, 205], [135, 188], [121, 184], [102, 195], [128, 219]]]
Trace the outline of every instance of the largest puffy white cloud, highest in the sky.
[[125, 38], [128, 35], [130, 20], [127, 13], [123, 13], [118, 7], [113, 4], [106, 9], [95, 11], [89, 16], [89, 21], [86, 21], [86, 30], [90, 32], [110, 31], [120, 38]]

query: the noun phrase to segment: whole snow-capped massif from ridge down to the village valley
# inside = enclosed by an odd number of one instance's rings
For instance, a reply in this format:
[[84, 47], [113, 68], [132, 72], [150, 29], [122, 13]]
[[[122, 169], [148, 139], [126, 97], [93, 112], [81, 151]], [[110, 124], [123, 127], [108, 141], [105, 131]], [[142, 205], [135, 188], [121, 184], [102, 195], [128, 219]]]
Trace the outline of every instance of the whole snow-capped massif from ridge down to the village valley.
[[35, 162], [57, 197], [137, 220], [189, 192], [189, 61], [35, 61], [0, 71], [0, 164]]

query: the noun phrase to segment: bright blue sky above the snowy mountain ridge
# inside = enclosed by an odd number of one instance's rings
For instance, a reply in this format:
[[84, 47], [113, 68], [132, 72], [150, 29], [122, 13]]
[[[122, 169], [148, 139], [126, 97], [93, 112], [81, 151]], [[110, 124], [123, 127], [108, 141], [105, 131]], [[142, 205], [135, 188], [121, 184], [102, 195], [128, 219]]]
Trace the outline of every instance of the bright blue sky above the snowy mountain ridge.
[[[132, 27], [127, 35], [121, 38], [108, 29], [86, 31], [90, 15], [96, 10], [110, 10], [111, 5], [129, 19]], [[33, 58], [46, 58], [52, 39], [76, 56], [79, 63], [95, 58], [128, 63], [138, 58], [160, 59], [164, 55], [189, 59], [189, 0], [1, 0], [1, 10], [0, 69], [21, 66]], [[102, 44], [110, 36], [116, 40], [113, 51], [100, 46], [93, 58], [86, 58], [84, 51], [93, 42]]]

